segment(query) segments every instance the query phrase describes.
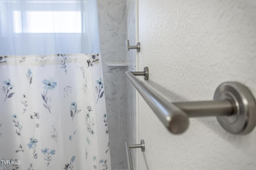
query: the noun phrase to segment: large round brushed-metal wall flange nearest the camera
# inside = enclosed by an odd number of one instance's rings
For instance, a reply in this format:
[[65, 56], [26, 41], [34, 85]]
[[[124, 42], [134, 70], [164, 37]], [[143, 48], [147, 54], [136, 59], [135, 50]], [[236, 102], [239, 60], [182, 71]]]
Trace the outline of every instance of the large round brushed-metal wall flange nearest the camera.
[[233, 114], [217, 117], [220, 125], [234, 134], [247, 134], [256, 124], [256, 102], [250, 90], [239, 82], [224, 82], [218, 86], [214, 100], [228, 100]]

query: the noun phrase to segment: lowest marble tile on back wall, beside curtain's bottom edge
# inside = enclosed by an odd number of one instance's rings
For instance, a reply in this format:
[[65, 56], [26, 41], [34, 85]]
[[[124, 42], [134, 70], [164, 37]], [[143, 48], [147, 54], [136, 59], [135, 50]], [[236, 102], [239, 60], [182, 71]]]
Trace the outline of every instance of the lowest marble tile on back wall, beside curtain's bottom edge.
[[110, 156], [112, 170], [128, 169], [125, 141], [111, 141]]

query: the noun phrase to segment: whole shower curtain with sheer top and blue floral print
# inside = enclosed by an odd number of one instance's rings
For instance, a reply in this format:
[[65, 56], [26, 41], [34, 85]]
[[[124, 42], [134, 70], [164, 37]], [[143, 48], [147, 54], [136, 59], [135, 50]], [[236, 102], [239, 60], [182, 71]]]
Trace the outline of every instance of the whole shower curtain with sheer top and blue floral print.
[[0, 33], [0, 170], [111, 169], [96, 1], [0, 0]]

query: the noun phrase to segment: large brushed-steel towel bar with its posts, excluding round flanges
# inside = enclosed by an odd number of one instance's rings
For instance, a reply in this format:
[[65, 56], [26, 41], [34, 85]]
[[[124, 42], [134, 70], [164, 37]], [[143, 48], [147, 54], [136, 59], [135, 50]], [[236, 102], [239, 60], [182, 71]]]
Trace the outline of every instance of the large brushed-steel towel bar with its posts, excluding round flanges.
[[172, 133], [184, 132], [188, 127], [188, 117], [229, 116], [236, 109], [236, 106], [228, 100], [171, 103], [135, 77], [142, 73], [145, 74], [145, 72], [134, 73], [126, 71], [128, 79]]

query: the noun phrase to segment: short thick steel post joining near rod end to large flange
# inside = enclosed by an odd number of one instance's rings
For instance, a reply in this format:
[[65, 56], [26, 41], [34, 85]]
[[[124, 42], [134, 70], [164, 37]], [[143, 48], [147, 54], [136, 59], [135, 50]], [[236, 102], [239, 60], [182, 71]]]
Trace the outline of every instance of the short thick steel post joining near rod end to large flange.
[[182, 109], [188, 117], [229, 116], [236, 109], [228, 100], [174, 102], [172, 104]]

